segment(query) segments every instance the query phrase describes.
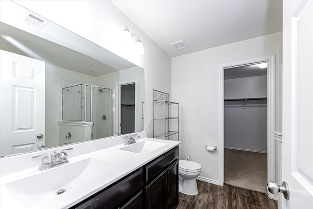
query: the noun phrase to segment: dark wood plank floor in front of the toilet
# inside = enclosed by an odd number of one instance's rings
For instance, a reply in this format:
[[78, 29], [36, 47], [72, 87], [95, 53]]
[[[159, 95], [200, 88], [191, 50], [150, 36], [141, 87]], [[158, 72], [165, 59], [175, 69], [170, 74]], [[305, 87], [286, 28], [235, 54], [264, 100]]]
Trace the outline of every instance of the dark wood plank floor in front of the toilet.
[[218, 186], [197, 181], [199, 194], [179, 192], [177, 209], [277, 209], [277, 201], [267, 194], [236, 186]]

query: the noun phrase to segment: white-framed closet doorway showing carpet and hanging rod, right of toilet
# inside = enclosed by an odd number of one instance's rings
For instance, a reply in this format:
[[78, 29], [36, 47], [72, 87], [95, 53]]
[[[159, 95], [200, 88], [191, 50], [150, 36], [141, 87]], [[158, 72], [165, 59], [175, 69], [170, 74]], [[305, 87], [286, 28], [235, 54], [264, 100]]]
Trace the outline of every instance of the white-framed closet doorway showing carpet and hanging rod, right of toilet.
[[221, 68], [222, 184], [268, 193], [275, 179], [274, 58]]

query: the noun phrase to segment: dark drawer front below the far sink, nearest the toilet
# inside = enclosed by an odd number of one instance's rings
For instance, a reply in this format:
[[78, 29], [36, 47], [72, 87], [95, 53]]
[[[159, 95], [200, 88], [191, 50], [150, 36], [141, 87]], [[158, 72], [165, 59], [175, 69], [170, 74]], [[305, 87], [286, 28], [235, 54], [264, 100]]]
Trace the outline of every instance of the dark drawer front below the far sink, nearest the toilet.
[[160, 174], [170, 163], [174, 162], [179, 158], [179, 150], [178, 146], [168, 151], [164, 155], [157, 158], [152, 163], [147, 164], [145, 169], [145, 183], [150, 182], [154, 179], [158, 174]]

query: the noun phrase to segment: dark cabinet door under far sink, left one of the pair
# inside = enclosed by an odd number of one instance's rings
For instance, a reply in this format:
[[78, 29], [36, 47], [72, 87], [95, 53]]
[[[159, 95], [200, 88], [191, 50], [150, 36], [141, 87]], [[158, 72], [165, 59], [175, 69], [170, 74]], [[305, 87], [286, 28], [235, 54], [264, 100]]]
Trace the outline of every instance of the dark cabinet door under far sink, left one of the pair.
[[166, 209], [166, 170], [145, 187], [146, 209]]

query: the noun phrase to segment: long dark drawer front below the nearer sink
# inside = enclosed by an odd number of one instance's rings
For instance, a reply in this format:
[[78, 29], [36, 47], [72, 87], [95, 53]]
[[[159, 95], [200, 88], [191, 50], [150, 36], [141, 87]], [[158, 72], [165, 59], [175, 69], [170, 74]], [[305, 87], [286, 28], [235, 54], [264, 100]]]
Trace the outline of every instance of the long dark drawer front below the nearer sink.
[[72, 207], [75, 209], [114, 209], [129, 201], [141, 190], [142, 169], [120, 180], [110, 188], [92, 195], [88, 199]]

